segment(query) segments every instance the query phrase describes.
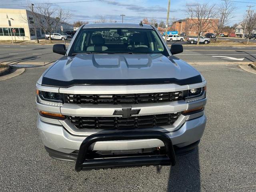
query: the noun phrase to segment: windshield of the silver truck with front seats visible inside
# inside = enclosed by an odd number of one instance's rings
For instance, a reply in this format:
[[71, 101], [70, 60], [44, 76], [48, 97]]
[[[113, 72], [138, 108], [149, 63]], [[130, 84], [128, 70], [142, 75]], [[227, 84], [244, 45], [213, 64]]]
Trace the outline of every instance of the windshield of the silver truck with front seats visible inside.
[[82, 29], [72, 44], [69, 55], [78, 53], [169, 55], [154, 30], [136, 28]]

